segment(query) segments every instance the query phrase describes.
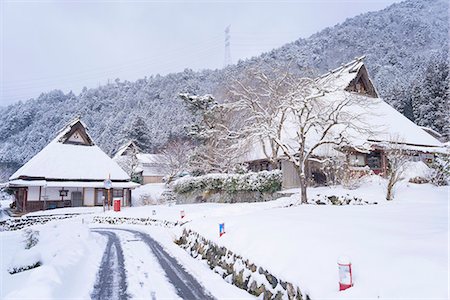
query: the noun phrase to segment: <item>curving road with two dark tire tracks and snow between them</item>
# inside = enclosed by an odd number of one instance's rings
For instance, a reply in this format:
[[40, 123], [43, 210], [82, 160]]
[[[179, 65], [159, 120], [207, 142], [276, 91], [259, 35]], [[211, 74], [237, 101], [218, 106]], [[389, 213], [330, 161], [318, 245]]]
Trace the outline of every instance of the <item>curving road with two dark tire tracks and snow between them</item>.
[[92, 231], [108, 238], [92, 299], [214, 299], [148, 234], [118, 228]]

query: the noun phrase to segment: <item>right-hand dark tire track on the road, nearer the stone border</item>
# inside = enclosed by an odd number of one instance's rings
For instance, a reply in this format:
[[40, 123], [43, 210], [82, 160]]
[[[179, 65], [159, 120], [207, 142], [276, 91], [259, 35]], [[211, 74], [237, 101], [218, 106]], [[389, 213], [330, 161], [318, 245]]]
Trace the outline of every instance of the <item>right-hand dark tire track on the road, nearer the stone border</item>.
[[[209, 300], [214, 297], [206, 291], [202, 285], [176, 261], [175, 258], [170, 256], [161, 245], [151, 238], [148, 234], [131, 230], [131, 229], [119, 229], [119, 228], [98, 228], [107, 231], [126, 231], [133, 233], [134, 236], [143, 241], [153, 252], [159, 264], [166, 272], [167, 278], [170, 283], [175, 287], [178, 296], [182, 299], [194, 300], [202, 299]], [[100, 232], [100, 231], [99, 231]], [[112, 233], [112, 232], [111, 232]], [[153, 296], [153, 295], [152, 295]], [[152, 297], [153, 298], [153, 297]]]

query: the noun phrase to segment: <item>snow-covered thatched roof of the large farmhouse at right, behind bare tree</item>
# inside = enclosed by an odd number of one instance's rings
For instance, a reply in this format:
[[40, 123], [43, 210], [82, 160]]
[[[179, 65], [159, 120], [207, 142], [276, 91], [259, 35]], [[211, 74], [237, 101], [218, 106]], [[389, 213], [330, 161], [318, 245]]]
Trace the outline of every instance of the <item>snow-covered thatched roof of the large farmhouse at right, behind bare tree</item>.
[[[346, 138], [351, 145], [360, 149], [369, 149], [375, 145], [386, 145], [386, 143], [400, 143], [403, 148], [422, 152], [446, 152], [443, 144], [432, 135], [414, 124], [392, 106], [381, 98], [369, 78], [367, 69], [363, 62], [364, 57], [355, 60], [332, 70], [316, 79], [316, 83], [322, 90], [323, 95], [320, 100], [323, 103], [333, 105], [343, 99], [354, 97], [351, 105], [345, 107], [345, 113], [358, 116], [352, 122], [359, 128], [370, 130], [357, 131], [346, 129]], [[344, 126], [344, 125], [342, 125]], [[339, 129], [339, 126], [337, 126]], [[299, 149], [297, 137], [297, 125], [293, 117], [287, 117], [282, 130], [282, 141], [295, 154]], [[315, 144], [319, 138], [317, 133], [308, 133], [311, 145]], [[311, 145], [306, 145], [308, 149]], [[266, 149], [270, 149], [266, 141]], [[314, 154], [317, 156], [336, 156], [333, 145], [322, 145], [318, 147]], [[283, 156], [278, 153], [278, 156]], [[255, 142], [248, 153], [243, 158], [244, 161], [253, 161], [266, 158], [262, 143]]]

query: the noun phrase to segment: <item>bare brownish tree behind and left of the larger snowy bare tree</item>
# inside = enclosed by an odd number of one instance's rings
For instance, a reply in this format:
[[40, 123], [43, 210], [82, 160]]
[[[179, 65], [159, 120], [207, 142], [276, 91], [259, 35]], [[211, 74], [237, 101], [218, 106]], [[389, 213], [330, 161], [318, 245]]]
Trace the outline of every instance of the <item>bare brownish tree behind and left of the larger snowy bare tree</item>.
[[251, 68], [239, 79], [233, 79], [228, 87], [227, 105], [242, 116], [241, 136], [261, 144], [266, 158], [276, 166], [281, 139], [289, 106], [286, 101], [292, 97], [297, 77], [284, 69], [264, 70]]

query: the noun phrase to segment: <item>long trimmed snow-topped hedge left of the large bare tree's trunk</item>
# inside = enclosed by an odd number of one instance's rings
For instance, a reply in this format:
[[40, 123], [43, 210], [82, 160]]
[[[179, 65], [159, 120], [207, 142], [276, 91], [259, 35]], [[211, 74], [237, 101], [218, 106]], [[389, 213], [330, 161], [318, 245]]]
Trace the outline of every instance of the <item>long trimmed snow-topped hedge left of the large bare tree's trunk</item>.
[[274, 193], [281, 189], [281, 181], [280, 170], [246, 174], [207, 174], [198, 177], [182, 177], [173, 183], [172, 188], [178, 194], [198, 190], [228, 193], [242, 191]]

